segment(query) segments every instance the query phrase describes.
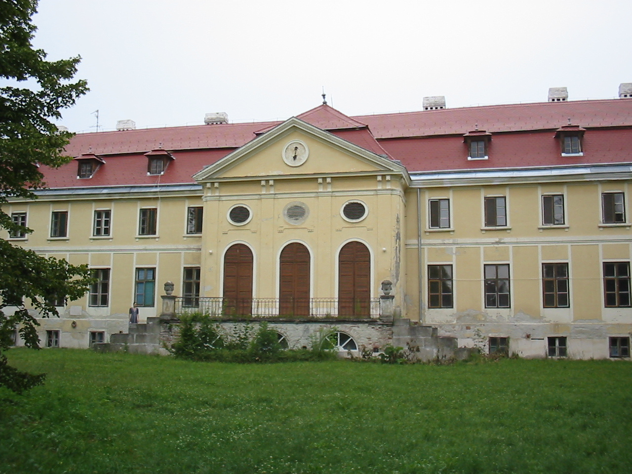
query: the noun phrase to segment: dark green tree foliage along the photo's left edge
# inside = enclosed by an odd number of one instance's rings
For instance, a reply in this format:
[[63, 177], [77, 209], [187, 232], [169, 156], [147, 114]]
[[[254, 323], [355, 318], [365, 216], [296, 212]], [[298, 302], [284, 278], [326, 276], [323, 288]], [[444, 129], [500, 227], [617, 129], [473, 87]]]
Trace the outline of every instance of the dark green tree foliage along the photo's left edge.
[[[88, 90], [83, 80], [68, 82], [76, 73], [79, 57], [46, 61], [46, 52], [33, 49], [36, 28], [31, 17], [36, 11], [37, 0], [0, 3], [0, 77], [9, 84], [0, 88], [0, 205], [8, 198], [34, 199], [33, 190], [46, 185], [39, 166], [59, 167], [70, 161], [63, 149], [73, 134], [59, 131], [51, 119], [61, 118], [61, 109], [75, 104]], [[25, 87], [16, 87], [18, 84]], [[32, 232], [14, 224], [1, 208], [0, 228]], [[23, 392], [44, 379], [9, 367], [4, 355], [16, 327], [28, 347], [39, 346], [37, 322], [28, 313], [25, 298], [42, 315], [57, 315], [49, 301], [82, 296], [89, 282], [88, 270], [40, 257], [3, 239], [0, 255], [0, 386]], [[18, 309], [5, 315], [2, 309], [7, 306]]]

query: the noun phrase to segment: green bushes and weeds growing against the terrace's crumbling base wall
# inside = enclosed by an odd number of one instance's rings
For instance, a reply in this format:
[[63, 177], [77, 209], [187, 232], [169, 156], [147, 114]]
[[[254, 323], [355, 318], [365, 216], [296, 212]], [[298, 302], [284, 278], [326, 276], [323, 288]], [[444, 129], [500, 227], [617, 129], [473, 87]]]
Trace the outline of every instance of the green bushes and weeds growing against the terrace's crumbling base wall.
[[335, 348], [322, 343], [329, 332], [319, 332], [309, 349], [284, 349], [279, 333], [266, 322], [258, 327], [240, 324], [228, 332], [208, 315], [185, 315], [180, 317], [180, 334], [171, 346], [171, 353], [188, 360], [241, 363], [335, 359]]

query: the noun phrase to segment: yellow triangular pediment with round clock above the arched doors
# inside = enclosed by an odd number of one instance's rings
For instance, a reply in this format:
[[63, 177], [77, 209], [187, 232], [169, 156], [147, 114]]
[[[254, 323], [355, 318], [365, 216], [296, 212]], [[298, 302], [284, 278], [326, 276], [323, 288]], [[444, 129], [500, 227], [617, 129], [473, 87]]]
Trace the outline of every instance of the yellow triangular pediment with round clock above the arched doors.
[[[294, 158], [296, 162], [292, 161], [290, 144], [301, 147], [304, 159], [298, 156]], [[406, 168], [386, 154], [377, 154], [293, 117], [205, 167], [193, 178], [202, 182], [217, 178], [377, 173], [401, 174], [406, 181], [410, 179]]]

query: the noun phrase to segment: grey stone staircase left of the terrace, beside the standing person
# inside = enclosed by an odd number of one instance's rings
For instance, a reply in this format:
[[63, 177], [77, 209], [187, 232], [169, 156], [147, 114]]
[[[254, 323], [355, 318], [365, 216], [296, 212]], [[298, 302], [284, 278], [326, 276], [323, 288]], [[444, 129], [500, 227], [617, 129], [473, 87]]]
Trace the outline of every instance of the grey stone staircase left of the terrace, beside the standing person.
[[127, 334], [112, 334], [109, 343], [93, 344], [95, 351], [125, 351], [132, 354], [166, 355], [160, 342], [160, 318], [147, 318], [145, 324], [130, 324]]

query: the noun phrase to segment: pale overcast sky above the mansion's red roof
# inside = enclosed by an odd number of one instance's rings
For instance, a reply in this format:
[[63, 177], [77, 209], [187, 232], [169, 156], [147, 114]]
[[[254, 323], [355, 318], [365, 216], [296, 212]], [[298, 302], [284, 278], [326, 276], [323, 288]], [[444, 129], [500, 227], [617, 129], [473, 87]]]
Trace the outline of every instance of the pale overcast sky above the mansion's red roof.
[[632, 82], [630, 0], [40, 0], [34, 45], [82, 56], [71, 131], [617, 96]]

